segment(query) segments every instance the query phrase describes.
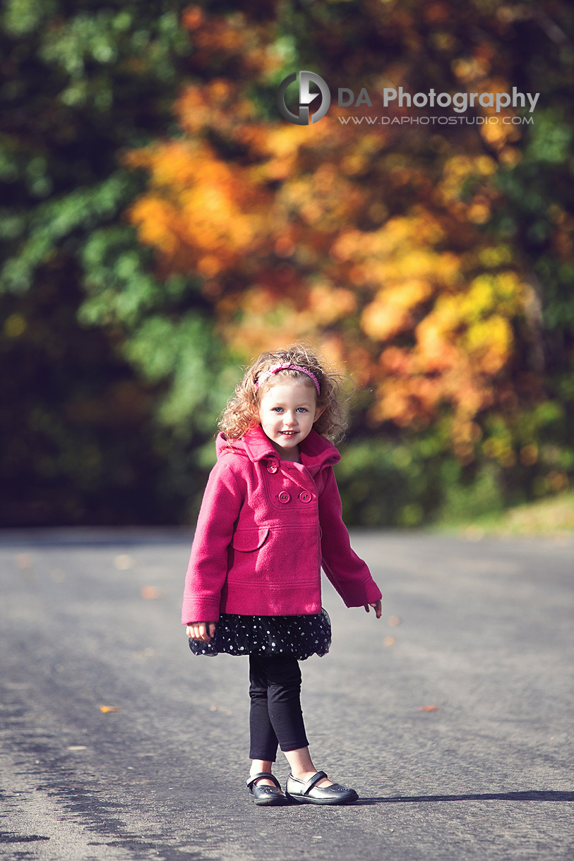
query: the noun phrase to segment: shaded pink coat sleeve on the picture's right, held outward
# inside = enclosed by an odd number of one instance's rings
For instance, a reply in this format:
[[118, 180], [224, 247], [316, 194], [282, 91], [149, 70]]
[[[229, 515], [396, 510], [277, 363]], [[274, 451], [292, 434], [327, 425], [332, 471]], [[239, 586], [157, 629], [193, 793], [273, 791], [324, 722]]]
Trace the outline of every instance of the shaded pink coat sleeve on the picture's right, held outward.
[[360, 607], [377, 601], [382, 595], [369, 568], [351, 548], [333, 467], [328, 467], [327, 472], [319, 496], [321, 565], [346, 606]]

